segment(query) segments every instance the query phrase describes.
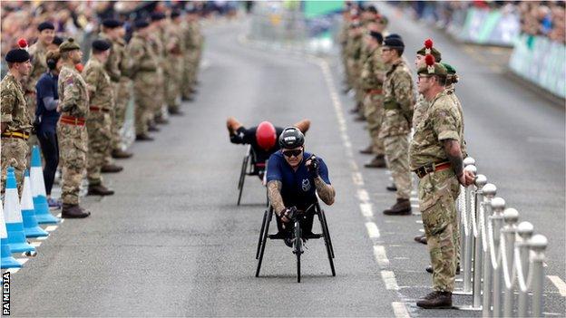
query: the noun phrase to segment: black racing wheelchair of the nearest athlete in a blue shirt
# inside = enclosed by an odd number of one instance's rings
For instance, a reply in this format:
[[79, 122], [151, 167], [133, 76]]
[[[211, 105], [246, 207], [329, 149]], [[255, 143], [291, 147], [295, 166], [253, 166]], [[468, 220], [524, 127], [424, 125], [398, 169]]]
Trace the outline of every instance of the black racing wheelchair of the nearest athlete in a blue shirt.
[[[275, 234], [270, 235], [268, 234], [269, 231], [269, 224], [271, 223], [271, 219], [274, 217], [275, 211], [271, 205], [268, 206], [268, 210], [266, 210], [263, 214], [263, 221], [261, 223], [261, 229], [259, 230], [259, 241], [258, 241], [258, 248], [256, 250], [256, 259], [258, 260], [258, 267], [256, 269], [256, 277], [259, 277], [259, 270], [261, 269], [261, 262], [263, 260], [263, 254], [265, 252], [265, 246], [267, 244], [268, 238], [269, 239], [285, 239], [288, 236]], [[305, 233], [300, 226], [299, 218], [303, 215], [308, 213], [314, 213], [318, 217], [318, 221], [320, 221], [320, 228], [322, 233], [315, 234], [315, 233]], [[318, 202], [315, 202], [310, 207], [308, 207], [305, 211], [299, 211], [295, 209], [291, 215], [289, 215], [291, 221], [288, 225], [293, 226], [291, 230], [291, 242], [292, 242], [292, 251], [293, 254], [297, 257], [297, 282], [300, 283], [301, 275], [300, 275], [300, 256], [304, 253], [303, 245], [307, 239], [318, 239], [323, 238], [325, 242], [325, 246], [327, 248], [327, 255], [328, 255], [328, 262], [330, 263], [330, 270], [333, 276], [336, 276], [336, 271], [334, 269], [334, 248], [332, 246], [332, 240], [330, 239], [330, 234], [328, 232], [328, 224], [327, 224], [327, 217], [324, 213], [324, 210], [320, 208]]]

